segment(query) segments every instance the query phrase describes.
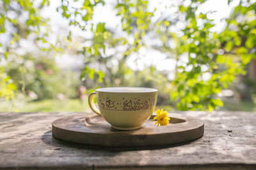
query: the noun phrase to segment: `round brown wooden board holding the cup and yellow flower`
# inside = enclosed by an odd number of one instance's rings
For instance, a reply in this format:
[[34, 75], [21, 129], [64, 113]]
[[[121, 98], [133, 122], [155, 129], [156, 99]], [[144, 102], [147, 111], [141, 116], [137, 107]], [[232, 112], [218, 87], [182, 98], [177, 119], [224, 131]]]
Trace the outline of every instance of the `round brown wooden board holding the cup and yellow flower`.
[[181, 143], [204, 135], [202, 120], [174, 113], [169, 117], [166, 126], [156, 127], [154, 120], [148, 120], [140, 129], [118, 131], [94, 113], [67, 116], [52, 122], [52, 136], [89, 145], [148, 146]]

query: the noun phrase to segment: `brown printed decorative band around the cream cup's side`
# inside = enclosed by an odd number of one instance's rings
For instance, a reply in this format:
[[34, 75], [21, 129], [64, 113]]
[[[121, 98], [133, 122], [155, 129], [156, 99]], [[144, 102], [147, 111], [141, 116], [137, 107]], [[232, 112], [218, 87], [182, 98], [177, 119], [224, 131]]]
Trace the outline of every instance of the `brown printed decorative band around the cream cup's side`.
[[98, 101], [99, 108], [106, 109], [106, 110], [120, 110], [120, 111], [138, 111], [138, 110], [152, 110], [154, 106], [156, 106], [155, 99], [131, 99], [125, 100], [123, 98], [123, 102], [116, 102], [112, 101], [107, 97], [106, 101], [105, 98], [99, 99]]

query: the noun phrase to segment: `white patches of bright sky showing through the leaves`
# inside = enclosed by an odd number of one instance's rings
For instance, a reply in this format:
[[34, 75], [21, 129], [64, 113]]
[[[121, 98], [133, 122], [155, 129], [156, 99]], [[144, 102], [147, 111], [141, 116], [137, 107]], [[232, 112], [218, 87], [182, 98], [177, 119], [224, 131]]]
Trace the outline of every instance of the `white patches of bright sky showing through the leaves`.
[[[153, 20], [156, 20], [161, 15], [161, 12], [164, 12], [166, 15], [170, 15], [171, 17], [175, 17], [172, 15], [173, 11], [175, 11], [174, 8], [177, 8], [177, 2], [179, 1], [168, 1], [168, 0], [160, 0], [160, 1], [149, 1], [149, 8], [150, 10], [154, 10], [154, 8], [157, 6], [157, 11], [155, 12], [155, 17]], [[189, 1], [185, 1], [184, 6], [188, 4]], [[211, 13], [209, 15], [210, 18], [214, 20], [216, 23], [216, 26], [212, 28], [212, 31], [220, 32], [223, 27], [225, 27], [225, 21], [222, 20], [223, 18], [226, 18], [230, 15], [232, 9], [234, 6], [236, 6], [239, 3], [239, 0], [234, 0], [230, 5], [228, 6], [227, 0], [209, 0], [200, 8], [198, 9], [198, 13], [207, 13], [208, 11], [215, 11], [214, 13]], [[120, 29], [120, 18], [115, 16], [115, 10], [113, 10], [113, 6], [115, 4], [115, 0], [108, 1], [108, 3], [105, 4], [105, 6], [99, 5], [95, 8], [95, 12], [93, 14], [93, 23], [97, 24], [98, 22], [106, 22], [106, 26], [113, 29], [118, 29], [121, 32]], [[165, 6], [172, 6], [172, 4], [176, 4], [174, 7], [172, 7], [170, 10], [166, 11]], [[56, 32], [59, 32], [58, 28], [63, 29], [63, 31], [67, 31], [68, 29], [68, 22], [61, 18], [61, 15], [56, 13], [56, 6], [58, 6], [58, 1], [51, 1], [50, 8], [43, 13], [45, 17], [51, 18], [51, 23], [53, 30]], [[173, 9], [173, 11], [172, 11]], [[118, 25], [119, 24], [119, 25]], [[180, 25], [175, 25], [173, 29], [179, 30], [181, 27]], [[77, 36], [90, 36], [90, 32], [83, 32], [79, 29], [76, 29], [72, 27], [72, 32], [74, 35]], [[70, 67], [71, 66], [81, 66], [83, 64], [83, 59], [73, 59], [72, 57], [63, 56], [63, 57], [57, 57], [56, 60], [58, 62], [61, 62], [62, 67]], [[135, 62], [136, 60], [136, 62]], [[186, 57], [184, 57], [184, 61], [186, 60]], [[169, 78], [173, 78], [172, 71], [175, 68], [175, 59], [172, 59], [165, 54], [158, 52], [157, 50], [148, 50], [146, 48], [141, 48], [138, 54], [131, 55], [131, 57], [127, 60], [127, 65], [131, 67], [134, 70], [141, 70], [144, 66], [156, 66], [157, 70], [159, 71], [169, 71], [170, 75]]]

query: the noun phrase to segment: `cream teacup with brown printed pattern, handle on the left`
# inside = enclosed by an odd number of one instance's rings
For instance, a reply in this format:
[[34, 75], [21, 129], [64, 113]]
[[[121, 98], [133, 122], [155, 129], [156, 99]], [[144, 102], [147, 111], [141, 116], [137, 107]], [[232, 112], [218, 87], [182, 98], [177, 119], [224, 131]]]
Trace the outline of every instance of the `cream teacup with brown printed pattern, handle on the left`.
[[[109, 87], [96, 89], [88, 97], [89, 106], [115, 129], [139, 129], [152, 115], [157, 89], [142, 87]], [[93, 103], [96, 96], [99, 109]]]

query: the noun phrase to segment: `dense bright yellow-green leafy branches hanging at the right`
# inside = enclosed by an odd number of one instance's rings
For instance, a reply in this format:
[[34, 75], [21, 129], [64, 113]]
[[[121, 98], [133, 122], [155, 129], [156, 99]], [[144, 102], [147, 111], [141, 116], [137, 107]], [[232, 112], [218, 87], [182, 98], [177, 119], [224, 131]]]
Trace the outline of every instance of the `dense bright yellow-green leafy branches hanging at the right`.
[[[187, 25], [182, 30], [184, 35], [175, 43], [179, 55], [188, 54], [188, 62], [177, 69], [171, 93], [171, 99], [178, 100], [179, 110], [212, 111], [223, 106], [216, 94], [227, 89], [237, 75], [246, 74], [244, 66], [256, 57], [256, 34], [250, 33], [256, 28], [256, 3], [241, 1], [226, 19], [227, 26], [220, 34], [211, 31], [214, 24], [207, 14], [195, 14], [202, 3], [191, 1], [189, 6], [179, 6], [180, 12], [186, 14]], [[243, 20], [238, 22], [238, 17]], [[202, 66], [207, 69], [202, 71]], [[204, 74], [210, 74], [211, 78], [204, 80]]]

